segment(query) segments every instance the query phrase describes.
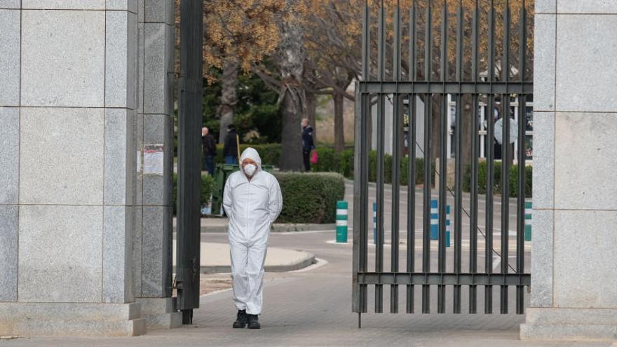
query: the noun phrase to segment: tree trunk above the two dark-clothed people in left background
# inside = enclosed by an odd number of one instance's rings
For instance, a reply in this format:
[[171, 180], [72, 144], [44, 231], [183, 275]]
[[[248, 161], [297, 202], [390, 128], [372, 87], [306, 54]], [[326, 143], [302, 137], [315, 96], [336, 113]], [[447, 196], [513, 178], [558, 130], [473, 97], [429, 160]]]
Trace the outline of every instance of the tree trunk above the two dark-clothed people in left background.
[[233, 115], [236, 110], [238, 97], [236, 95], [236, 86], [238, 86], [238, 62], [236, 60], [227, 60], [223, 67], [223, 76], [221, 78], [221, 106], [219, 114], [221, 117], [221, 128], [219, 131], [219, 143], [225, 142], [227, 136], [227, 125], [233, 123]]

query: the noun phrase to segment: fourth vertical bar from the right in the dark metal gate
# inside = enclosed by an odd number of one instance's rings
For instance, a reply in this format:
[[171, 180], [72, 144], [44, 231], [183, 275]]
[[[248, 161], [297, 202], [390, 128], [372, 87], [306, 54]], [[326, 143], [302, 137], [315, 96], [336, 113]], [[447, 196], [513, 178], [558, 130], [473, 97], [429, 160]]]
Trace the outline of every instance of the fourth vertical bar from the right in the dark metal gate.
[[[478, 5], [475, 1], [472, 19], [472, 43], [471, 43], [471, 80], [477, 83], [477, 36], [478, 36]], [[470, 182], [470, 228], [469, 228], [469, 272], [477, 272], [477, 167], [480, 157], [480, 146], [478, 143], [478, 95], [474, 93], [471, 97], [473, 111], [471, 114], [471, 182]], [[469, 313], [477, 312], [477, 286], [469, 286]]]

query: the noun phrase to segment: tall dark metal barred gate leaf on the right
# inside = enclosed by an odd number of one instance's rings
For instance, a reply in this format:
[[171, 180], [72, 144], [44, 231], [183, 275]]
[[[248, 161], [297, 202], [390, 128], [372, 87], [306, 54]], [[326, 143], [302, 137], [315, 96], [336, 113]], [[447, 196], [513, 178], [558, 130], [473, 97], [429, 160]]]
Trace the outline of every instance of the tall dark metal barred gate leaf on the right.
[[[393, 25], [393, 80], [386, 81], [384, 79], [385, 74], [385, 60], [386, 60], [386, 48], [385, 48], [385, 32], [386, 27], [384, 23], [385, 11], [384, 1], [381, 1], [379, 7], [379, 23], [378, 23], [378, 60], [377, 60], [377, 80], [372, 80], [370, 76], [370, 9], [368, 1], [365, 1], [364, 13], [362, 18], [362, 81], [358, 81], [355, 84], [356, 95], [356, 115], [355, 115], [355, 182], [354, 182], [354, 223], [353, 223], [353, 290], [352, 290], [352, 309], [353, 312], [358, 313], [358, 327], [361, 327], [361, 314], [367, 312], [367, 285], [375, 285], [375, 312], [383, 312], [383, 285], [391, 285], [391, 312], [398, 312], [398, 285], [406, 285], [407, 287], [407, 313], [414, 313], [414, 285], [422, 285], [422, 313], [430, 313], [430, 285], [438, 285], [438, 313], [445, 313], [445, 286], [454, 286], [454, 313], [461, 313], [461, 286], [468, 285], [470, 287], [470, 309], [469, 313], [476, 312], [476, 299], [477, 299], [477, 285], [484, 285], [485, 287], [485, 305], [484, 313], [492, 313], [492, 286], [499, 285], [501, 287], [501, 304], [500, 313], [508, 313], [508, 286], [516, 285], [516, 313], [522, 314], [524, 311], [524, 287], [531, 284], [531, 275], [524, 272], [524, 134], [525, 134], [525, 118], [519, 117], [519, 134], [518, 134], [518, 163], [523, 163], [518, 167], [518, 179], [519, 184], [517, 186], [517, 268], [515, 273], [509, 273], [508, 271], [508, 224], [509, 224], [509, 170], [510, 160], [502, 161], [502, 204], [501, 204], [501, 254], [497, 253], [492, 247], [493, 236], [493, 192], [492, 189], [487, 189], [487, 219], [486, 229], [487, 233], [484, 236], [487, 240], [487, 247], [485, 247], [486, 263], [485, 273], [477, 273], [477, 232], [482, 233], [482, 230], [477, 226], [477, 209], [478, 209], [478, 156], [479, 156], [479, 138], [478, 138], [478, 103], [479, 95], [487, 95], [489, 100], [489, 112], [491, 116], [487, 116], [489, 120], [487, 129], [487, 138], [492, 139], [494, 137], [494, 117], [492, 116], [494, 110], [495, 96], [501, 95], [501, 107], [502, 118], [508, 115], [510, 118], [510, 95], [517, 94], [519, 97], [519, 114], [526, 114], [526, 96], [533, 94], [533, 82], [526, 79], [525, 73], [525, 60], [527, 59], [527, 11], [525, 8], [525, 1], [522, 0], [522, 9], [520, 13], [520, 42], [524, 42], [525, 49], [520, 49], [520, 81], [510, 81], [510, 4], [508, 1], [507, 6], [503, 12], [504, 30], [503, 30], [503, 56], [501, 63], [506, 66], [505, 69], [501, 69], [501, 80], [497, 80], [494, 74], [494, 68], [496, 64], [496, 48], [495, 48], [495, 18], [496, 11], [494, 4], [491, 1], [491, 7], [489, 9], [489, 53], [488, 53], [488, 81], [481, 81], [478, 74], [478, 66], [480, 60], [478, 60], [478, 42], [479, 42], [479, 20], [480, 20], [480, 8], [478, 2], [475, 2], [475, 8], [473, 11], [473, 23], [472, 23], [472, 80], [463, 81], [463, 13], [464, 9], [462, 1], [459, 3], [457, 13], [457, 27], [456, 27], [456, 81], [449, 81], [447, 76], [447, 67], [449, 66], [448, 59], [441, 59], [440, 61], [440, 79], [432, 79], [433, 71], [433, 20], [432, 11], [433, 1], [426, 0], [429, 6], [426, 7], [426, 20], [425, 20], [425, 46], [429, 46], [431, 49], [425, 49], [424, 52], [424, 76], [425, 79], [416, 79], [416, 41], [417, 41], [417, 19], [418, 11], [416, 9], [416, 1], [413, 1], [412, 8], [409, 9], [409, 81], [401, 81], [400, 74], [400, 6], [396, 6], [394, 11], [394, 25]], [[442, 27], [441, 27], [441, 57], [447, 56], [448, 51], [448, 18], [447, 3], [443, 1], [442, 6]], [[428, 43], [427, 43], [428, 42]], [[367, 116], [370, 114], [371, 95], [377, 95], [377, 237], [376, 237], [376, 260], [375, 271], [367, 272], [367, 236], [368, 236], [368, 163], [369, 163], [369, 149], [368, 141], [368, 121]], [[393, 177], [392, 177], [392, 249], [391, 249], [391, 272], [384, 272], [384, 119], [386, 117], [384, 111], [384, 99], [386, 95], [393, 95], [393, 124], [395, 131], [393, 131]], [[424, 104], [424, 177], [425, 184], [423, 189], [423, 264], [422, 271], [414, 271], [414, 257], [415, 257], [415, 186], [414, 184], [407, 185], [408, 198], [408, 215], [407, 218], [407, 271], [400, 272], [398, 270], [398, 244], [399, 244], [399, 203], [400, 203], [400, 182], [399, 182], [399, 170], [400, 170], [400, 144], [398, 136], [398, 128], [401, 126], [402, 108], [400, 104], [402, 97], [407, 95], [409, 97], [409, 165], [408, 165], [408, 182], [415, 182], [416, 168], [416, 97], [418, 95], [424, 95], [425, 100], [429, 100]], [[426, 180], [430, 182], [432, 162], [430, 161], [430, 122], [433, 121], [431, 112], [432, 99], [438, 96], [440, 102], [440, 139], [442, 142], [440, 147], [440, 158], [446, 158], [446, 146], [445, 140], [447, 136], [447, 95], [452, 95], [456, 98], [456, 142], [459, 144], [456, 147], [457, 158], [460, 158], [461, 154], [461, 135], [462, 135], [462, 107], [461, 99], [463, 95], [472, 95], [473, 102], [473, 114], [472, 114], [472, 151], [473, 160], [471, 168], [471, 212], [470, 217], [470, 268], [467, 273], [463, 273], [461, 270], [461, 257], [462, 257], [462, 163], [457, 159], [456, 161], [456, 193], [452, 193], [455, 199], [454, 206], [454, 273], [446, 272], [446, 252], [445, 252], [445, 208], [447, 203], [446, 196], [446, 179], [445, 172], [447, 164], [445, 160], [440, 161], [440, 175], [443, 179], [440, 179], [439, 187], [439, 240], [438, 240], [438, 272], [430, 271], [430, 190], [431, 184], [426, 184]], [[510, 135], [510, 122], [503, 121], [503, 138], [508, 139]], [[492, 141], [492, 140], [491, 140]], [[502, 146], [502, 158], [510, 158], [509, 145]], [[494, 186], [494, 148], [492, 145], [487, 144], [489, 149], [487, 152], [487, 186]], [[428, 178], [427, 178], [428, 177]], [[467, 213], [467, 212], [466, 212]], [[482, 233], [484, 235], [484, 233]], [[488, 246], [490, 245], [490, 246]], [[504, 261], [501, 261], [500, 273], [492, 273], [492, 255], [493, 253], [499, 254]]]

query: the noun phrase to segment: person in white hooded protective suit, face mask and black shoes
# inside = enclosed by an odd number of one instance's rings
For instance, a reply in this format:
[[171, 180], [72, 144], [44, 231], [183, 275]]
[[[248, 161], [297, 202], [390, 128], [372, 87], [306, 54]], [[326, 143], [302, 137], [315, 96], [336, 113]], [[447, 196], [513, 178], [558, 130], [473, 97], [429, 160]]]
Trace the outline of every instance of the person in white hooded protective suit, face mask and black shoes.
[[225, 183], [223, 208], [229, 218], [233, 302], [238, 308], [234, 328], [259, 329], [262, 313], [264, 261], [270, 226], [283, 208], [276, 178], [261, 168], [262, 159], [248, 148], [240, 156], [240, 171]]

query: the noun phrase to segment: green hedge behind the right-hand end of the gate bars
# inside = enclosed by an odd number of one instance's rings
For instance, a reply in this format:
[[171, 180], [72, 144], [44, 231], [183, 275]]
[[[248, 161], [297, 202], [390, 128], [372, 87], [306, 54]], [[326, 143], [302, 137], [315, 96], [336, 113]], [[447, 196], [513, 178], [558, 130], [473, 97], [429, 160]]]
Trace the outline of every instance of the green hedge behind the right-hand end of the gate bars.
[[[531, 198], [531, 177], [533, 167], [525, 166], [525, 197]], [[494, 162], [493, 172], [493, 193], [501, 194], [501, 161]], [[515, 198], [518, 196], [517, 184], [518, 184], [518, 165], [510, 166], [510, 196]], [[465, 168], [465, 175], [463, 177], [463, 191], [470, 191], [471, 189], [471, 165], [467, 165]], [[477, 191], [479, 194], [487, 193], [487, 162], [481, 161], [477, 168]]]

